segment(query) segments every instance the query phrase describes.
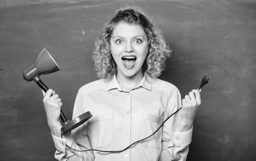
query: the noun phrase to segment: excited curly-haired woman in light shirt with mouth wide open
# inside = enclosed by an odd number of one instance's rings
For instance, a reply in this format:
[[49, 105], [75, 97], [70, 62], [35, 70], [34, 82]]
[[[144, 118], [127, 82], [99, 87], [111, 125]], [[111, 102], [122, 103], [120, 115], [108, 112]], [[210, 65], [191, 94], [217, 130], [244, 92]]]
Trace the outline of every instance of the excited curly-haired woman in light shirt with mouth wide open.
[[[121, 8], [104, 25], [96, 40], [93, 59], [99, 80], [78, 91], [73, 118], [90, 111], [93, 117], [61, 138], [61, 99], [51, 89], [44, 107], [59, 161], [171, 161], [186, 160], [192, 124], [201, 104], [200, 91], [192, 90], [181, 101], [179, 90], [157, 79], [170, 56], [160, 31], [144, 12]], [[53, 94], [51, 96], [51, 94]], [[71, 150], [123, 150], [122, 153]]]

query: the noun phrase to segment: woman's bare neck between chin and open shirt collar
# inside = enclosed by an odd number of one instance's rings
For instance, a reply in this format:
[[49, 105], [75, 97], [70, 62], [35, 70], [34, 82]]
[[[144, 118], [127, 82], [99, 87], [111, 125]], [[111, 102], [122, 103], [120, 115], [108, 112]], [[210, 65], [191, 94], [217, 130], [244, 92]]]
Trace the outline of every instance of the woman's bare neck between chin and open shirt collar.
[[131, 77], [125, 76], [124, 74], [117, 72], [116, 79], [123, 88], [125, 88], [126, 90], [131, 90], [132, 88], [136, 87], [143, 79], [142, 69]]

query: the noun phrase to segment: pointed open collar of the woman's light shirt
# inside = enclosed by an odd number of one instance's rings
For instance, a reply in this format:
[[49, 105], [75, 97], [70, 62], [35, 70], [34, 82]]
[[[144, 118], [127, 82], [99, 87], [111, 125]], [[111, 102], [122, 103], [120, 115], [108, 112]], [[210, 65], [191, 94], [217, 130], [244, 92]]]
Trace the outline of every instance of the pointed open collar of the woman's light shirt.
[[[140, 81], [140, 83], [133, 89], [139, 88], [139, 87], [143, 87], [147, 90], [151, 91], [151, 77], [145, 72], [143, 79]], [[113, 78], [111, 79], [110, 82], [108, 82], [107, 85], [107, 90], [111, 90], [111, 89], [115, 89], [117, 88], [119, 91], [124, 91], [121, 87], [121, 85], [119, 84], [119, 82], [116, 79], [116, 74], [113, 76]]]

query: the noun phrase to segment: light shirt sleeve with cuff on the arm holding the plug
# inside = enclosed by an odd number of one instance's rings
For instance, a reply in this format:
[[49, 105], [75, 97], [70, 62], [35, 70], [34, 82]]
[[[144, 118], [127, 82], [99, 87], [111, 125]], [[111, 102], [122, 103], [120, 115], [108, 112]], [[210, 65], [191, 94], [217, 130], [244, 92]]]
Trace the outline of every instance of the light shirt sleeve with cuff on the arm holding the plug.
[[[167, 100], [166, 119], [172, 113], [175, 113], [180, 107], [181, 96], [177, 88], [172, 91], [172, 96]], [[162, 127], [162, 151], [159, 161], [186, 161], [189, 144], [192, 141], [193, 127], [185, 132], [179, 132], [178, 125], [180, 123], [181, 110], [173, 115]]]

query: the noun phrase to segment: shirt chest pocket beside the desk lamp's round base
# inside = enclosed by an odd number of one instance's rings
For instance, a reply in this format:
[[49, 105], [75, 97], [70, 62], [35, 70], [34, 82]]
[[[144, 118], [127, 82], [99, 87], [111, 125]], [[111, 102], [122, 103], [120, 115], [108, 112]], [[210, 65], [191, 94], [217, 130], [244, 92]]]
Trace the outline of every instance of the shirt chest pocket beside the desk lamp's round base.
[[113, 142], [113, 113], [93, 116], [87, 128], [93, 149], [109, 147]]

